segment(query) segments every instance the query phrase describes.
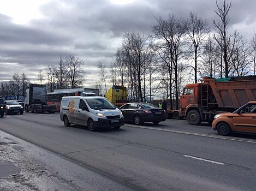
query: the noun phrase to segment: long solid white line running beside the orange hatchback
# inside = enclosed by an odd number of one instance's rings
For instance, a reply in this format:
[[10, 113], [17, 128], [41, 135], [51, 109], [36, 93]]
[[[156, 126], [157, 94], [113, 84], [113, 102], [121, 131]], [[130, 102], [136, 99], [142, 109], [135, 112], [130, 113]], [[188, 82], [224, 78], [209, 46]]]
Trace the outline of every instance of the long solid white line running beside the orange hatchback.
[[207, 138], [216, 138], [216, 139], [225, 139], [225, 140], [231, 140], [231, 141], [250, 142], [250, 143], [256, 144], [256, 141], [248, 141], [248, 140], [243, 140], [243, 139], [234, 139], [234, 138], [228, 138], [228, 137], [225, 137], [225, 136], [215, 136], [215, 135], [206, 135], [206, 134], [200, 134], [200, 133], [181, 132], [179, 130], [169, 130], [169, 129], [154, 128], [154, 127], [135, 126], [135, 125], [132, 125], [132, 124], [125, 124], [125, 126], [137, 127], [137, 128], [142, 128], [142, 129], [160, 130], [162, 132], [171, 132], [171, 133], [180, 133], [180, 134], [186, 134], [186, 135], [205, 136]]

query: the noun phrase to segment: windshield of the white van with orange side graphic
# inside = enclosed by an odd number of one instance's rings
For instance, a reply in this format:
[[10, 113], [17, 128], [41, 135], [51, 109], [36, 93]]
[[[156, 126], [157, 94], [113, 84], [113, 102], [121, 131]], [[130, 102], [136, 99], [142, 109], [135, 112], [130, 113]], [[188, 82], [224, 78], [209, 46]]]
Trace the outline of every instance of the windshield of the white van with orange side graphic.
[[94, 110], [116, 109], [116, 107], [111, 102], [109, 102], [108, 99], [94, 98], [86, 99], [86, 101], [90, 108]]

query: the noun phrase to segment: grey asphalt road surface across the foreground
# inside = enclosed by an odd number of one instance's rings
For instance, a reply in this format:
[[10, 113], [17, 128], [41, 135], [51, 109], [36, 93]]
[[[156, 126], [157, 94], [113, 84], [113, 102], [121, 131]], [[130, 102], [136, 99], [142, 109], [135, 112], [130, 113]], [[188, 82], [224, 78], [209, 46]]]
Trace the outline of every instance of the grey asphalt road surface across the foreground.
[[43, 149], [22, 148], [27, 156], [81, 190], [256, 190], [255, 135], [220, 136], [182, 120], [90, 132], [64, 127], [58, 113], [0, 121], [3, 132]]

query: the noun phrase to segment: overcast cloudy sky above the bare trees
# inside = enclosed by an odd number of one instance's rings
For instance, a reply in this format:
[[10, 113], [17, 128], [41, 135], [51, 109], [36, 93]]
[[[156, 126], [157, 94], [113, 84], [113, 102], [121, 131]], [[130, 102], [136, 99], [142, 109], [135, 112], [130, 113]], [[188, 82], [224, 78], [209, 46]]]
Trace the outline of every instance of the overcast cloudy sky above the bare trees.
[[[250, 40], [256, 30], [256, 1], [232, 4], [229, 30]], [[35, 82], [39, 70], [57, 64], [60, 55], [74, 55], [85, 62], [85, 86], [92, 86], [99, 80], [97, 63], [110, 65], [124, 32], [150, 34], [155, 16], [186, 19], [190, 10], [210, 26], [217, 18], [214, 0], [0, 1], [0, 81], [25, 73]]]

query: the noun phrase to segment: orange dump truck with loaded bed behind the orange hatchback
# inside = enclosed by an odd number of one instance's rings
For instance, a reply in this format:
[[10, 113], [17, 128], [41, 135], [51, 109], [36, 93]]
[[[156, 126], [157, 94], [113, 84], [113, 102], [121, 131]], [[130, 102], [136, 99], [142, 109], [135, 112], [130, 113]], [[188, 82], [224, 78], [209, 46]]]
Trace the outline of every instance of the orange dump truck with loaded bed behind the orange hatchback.
[[190, 124], [211, 123], [216, 114], [233, 112], [256, 100], [256, 76], [213, 79], [186, 85], [180, 98], [180, 110], [167, 110], [175, 118], [186, 117]]

